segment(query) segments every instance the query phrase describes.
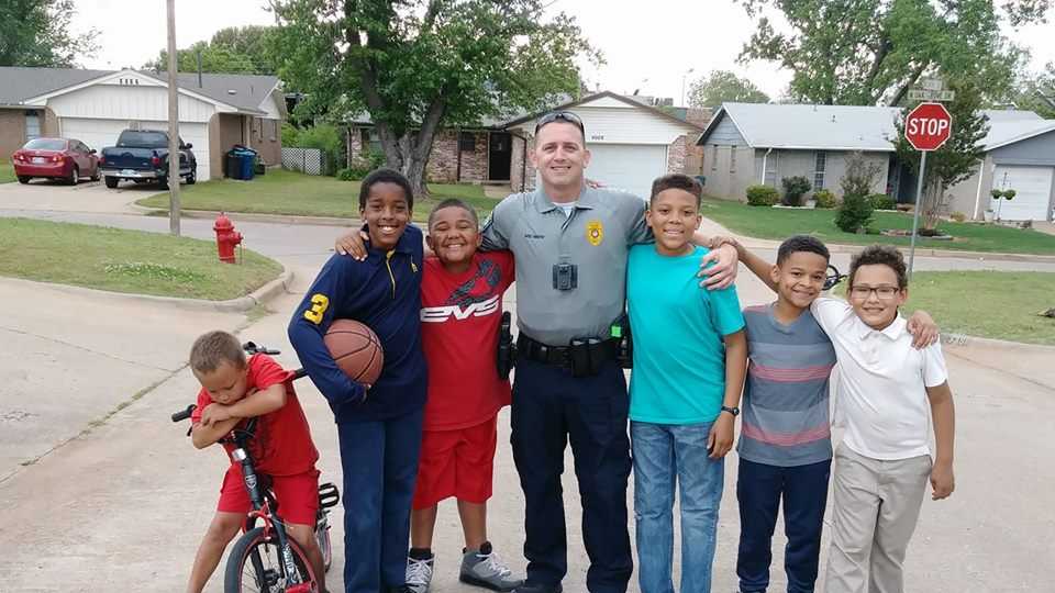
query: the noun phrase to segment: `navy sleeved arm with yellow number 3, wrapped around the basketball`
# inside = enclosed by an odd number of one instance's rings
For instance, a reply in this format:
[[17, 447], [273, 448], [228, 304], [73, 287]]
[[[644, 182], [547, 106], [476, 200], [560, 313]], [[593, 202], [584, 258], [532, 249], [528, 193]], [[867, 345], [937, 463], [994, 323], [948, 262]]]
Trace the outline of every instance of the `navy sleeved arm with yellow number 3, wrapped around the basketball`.
[[352, 381], [330, 356], [323, 336], [337, 313], [351, 306], [351, 291], [364, 281], [367, 264], [343, 256], [331, 257], [312, 282], [304, 300], [293, 310], [289, 322], [289, 342], [300, 363], [319, 391], [337, 405], [360, 401], [366, 396], [366, 387]]

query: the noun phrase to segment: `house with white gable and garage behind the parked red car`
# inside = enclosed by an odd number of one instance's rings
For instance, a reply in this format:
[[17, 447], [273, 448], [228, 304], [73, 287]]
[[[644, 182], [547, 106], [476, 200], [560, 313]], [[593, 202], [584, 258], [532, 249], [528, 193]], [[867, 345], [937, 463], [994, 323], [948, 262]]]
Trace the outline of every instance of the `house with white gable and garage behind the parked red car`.
[[[168, 128], [168, 77], [145, 70], [0, 67], [0, 158], [32, 138], [112, 146], [127, 127]], [[235, 144], [281, 161], [286, 101], [274, 76], [181, 72], [179, 134], [193, 145], [198, 180], [222, 174]]]

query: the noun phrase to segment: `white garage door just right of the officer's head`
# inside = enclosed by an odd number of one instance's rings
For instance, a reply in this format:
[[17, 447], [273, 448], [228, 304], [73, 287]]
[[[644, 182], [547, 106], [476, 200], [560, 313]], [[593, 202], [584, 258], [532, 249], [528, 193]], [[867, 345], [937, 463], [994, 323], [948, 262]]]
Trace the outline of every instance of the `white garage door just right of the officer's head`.
[[652, 181], [667, 172], [667, 147], [655, 144], [591, 144], [586, 176], [647, 199]]

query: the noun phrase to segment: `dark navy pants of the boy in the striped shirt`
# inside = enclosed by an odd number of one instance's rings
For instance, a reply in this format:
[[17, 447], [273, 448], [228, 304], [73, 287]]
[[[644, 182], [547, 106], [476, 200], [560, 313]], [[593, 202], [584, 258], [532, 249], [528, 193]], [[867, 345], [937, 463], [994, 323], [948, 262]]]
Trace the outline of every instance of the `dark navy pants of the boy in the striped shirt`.
[[740, 552], [736, 575], [743, 593], [769, 586], [773, 532], [784, 500], [784, 533], [788, 545], [784, 568], [789, 593], [810, 593], [817, 582], [821, 529], [828, 502], [832, 461], [784, 468], [740, 460], [736, 499], [740, 501]]

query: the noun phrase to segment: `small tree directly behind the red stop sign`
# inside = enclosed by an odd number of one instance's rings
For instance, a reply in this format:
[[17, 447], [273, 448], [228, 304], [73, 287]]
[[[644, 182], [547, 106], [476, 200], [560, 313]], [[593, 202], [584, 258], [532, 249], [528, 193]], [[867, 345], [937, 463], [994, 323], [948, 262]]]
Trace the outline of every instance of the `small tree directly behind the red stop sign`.
[[[952, 136], [941, 148], [926, 155], [923, 195], [917, 197], [917, 208], [926, 231], [937, 227], [946, 205], [945, 189], [967, 179], [979, 167], [985, 154], [981, 139], [989, 132], [989, 118], [981, 112], [985, 107], [981, 92], [968, 82], [953, 83], [951, 89], [956, 92], [956, 100], [945, 107], [953, 116]], [[898, 135], [892, 142], [898, 160], [919, 179], [921, 153], [904, 139], [904, 116], [911, 109], [895, 123]]]

